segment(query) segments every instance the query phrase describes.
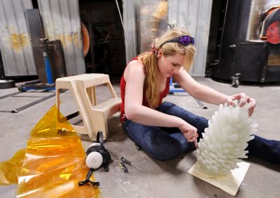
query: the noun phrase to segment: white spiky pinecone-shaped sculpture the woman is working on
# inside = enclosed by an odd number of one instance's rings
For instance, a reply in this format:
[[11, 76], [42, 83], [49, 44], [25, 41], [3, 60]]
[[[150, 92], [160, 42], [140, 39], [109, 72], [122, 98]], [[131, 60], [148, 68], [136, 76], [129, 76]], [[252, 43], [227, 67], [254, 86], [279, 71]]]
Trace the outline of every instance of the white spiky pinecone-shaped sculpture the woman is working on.
[[197, 162], [209, 176], [226, 176], [238, 167], [240, 158], [247, 158], [244, 149], [258, 125], [248, 117], [248, 104], [239, 107], [237, 103], [219, 106], [198, 144]]

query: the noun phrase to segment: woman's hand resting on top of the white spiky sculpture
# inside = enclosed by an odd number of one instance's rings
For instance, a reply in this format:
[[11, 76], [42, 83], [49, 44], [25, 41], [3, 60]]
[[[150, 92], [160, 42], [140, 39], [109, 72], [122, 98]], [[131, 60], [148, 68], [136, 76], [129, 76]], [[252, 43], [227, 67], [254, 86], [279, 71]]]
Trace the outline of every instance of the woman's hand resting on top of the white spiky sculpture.
[[238, 93], [238, 94], [235, 94], [235, 95], [232, 95], [232, 96], [229, 96], [227, 98], [227, 103], [229, 105], [232, 105], [232, 106], [235, 106], [235, 102], [234, 100], [239, 100], [240, 103], [239, 103], [239, 106], [240, 107], [243, 107], [247, 102], [249, 103], [249, 107], [248, 107], [248, 115], [251, 116], [253, 114], [253, 111], [255, 109], [255, 105], [257, 104], [255, 102], [255, 99], [254, 98], [250, 98], [246, 95], [246, 93]]

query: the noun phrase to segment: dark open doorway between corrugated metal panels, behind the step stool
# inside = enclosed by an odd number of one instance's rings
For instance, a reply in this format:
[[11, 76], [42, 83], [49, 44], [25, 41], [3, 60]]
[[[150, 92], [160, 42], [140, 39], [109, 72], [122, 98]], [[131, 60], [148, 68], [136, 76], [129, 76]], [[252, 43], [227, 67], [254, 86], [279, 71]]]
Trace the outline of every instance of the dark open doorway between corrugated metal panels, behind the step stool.
[[[120, 12], [123, 3], [118, 1]], [[79, 1], [80, 20], [90, 34], [87, 72], [122, 74], [126, 66], [125, 37], [116, 1]]]

